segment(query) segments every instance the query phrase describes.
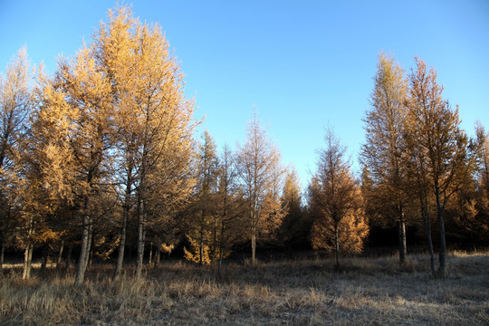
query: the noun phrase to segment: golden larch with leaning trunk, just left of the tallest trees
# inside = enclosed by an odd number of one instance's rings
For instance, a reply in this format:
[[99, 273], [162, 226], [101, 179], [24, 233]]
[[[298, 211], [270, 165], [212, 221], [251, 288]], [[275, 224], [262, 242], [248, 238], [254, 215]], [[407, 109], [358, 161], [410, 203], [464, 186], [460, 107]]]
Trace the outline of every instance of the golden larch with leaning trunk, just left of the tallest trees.
[[82, 48], [71, 62], [59, 62], [54, 83], [62, 91], [66, 105], [76, 112], [71, 121], [70, 145], [77, 172], [72, 190], [82, 217], [82, 248], [75, 275], [75, 284], [81, 285], [91, 251], [96, 199], [101, 194], [103, 178], [107, 177], [112, 133], [110, 82], [94, 61], [92, 44]]

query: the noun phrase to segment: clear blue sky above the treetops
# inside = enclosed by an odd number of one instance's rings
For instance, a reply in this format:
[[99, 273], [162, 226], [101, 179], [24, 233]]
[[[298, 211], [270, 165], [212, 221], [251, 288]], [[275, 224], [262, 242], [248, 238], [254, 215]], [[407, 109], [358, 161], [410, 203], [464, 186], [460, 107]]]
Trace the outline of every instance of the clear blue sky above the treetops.
[[[116, 1], [0, 0], [0, 69], [22, 46], [53, 72], [59, 54], [90, 41]], [[130, 4], [130, 2], [126, 2]], [[197, 117], [219, 146], [245, 142], [254, 107], [309, 182], [331, 126], [353, 167], [364, 141], [380, 51], [409, 72], [414, 56], [438, 72], [462, 127], [489, 129], [489, 1], [133, 1], [158, 23], [186, 74]]]

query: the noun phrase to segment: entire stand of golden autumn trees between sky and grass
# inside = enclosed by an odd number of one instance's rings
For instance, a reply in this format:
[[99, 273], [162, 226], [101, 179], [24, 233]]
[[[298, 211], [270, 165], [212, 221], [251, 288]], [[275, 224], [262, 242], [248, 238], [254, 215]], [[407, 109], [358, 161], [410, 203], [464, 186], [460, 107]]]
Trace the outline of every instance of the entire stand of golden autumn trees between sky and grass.
[[220, 271], [236, 250], [255, 264], [313, 249], [339, 268], [341, 255], [396, 246], [400, 264], [423, 251], [443, 277], [448, 248], [489, 245], [489, 134], [460, 128], [420, 58], [405, 72], [380, 53], [365, 108], [361, 175], [330, 129], [302, 191], [256, 112], [235, 148], [197, 136], [164, 34], [128, 7], [52, 76], [21, 49], [0, 79], [0, 270], [23, 253], [24, 279], [40, 257], [74, 266], [80, 285], [93, 260], [117, 279], [163, 253]]

